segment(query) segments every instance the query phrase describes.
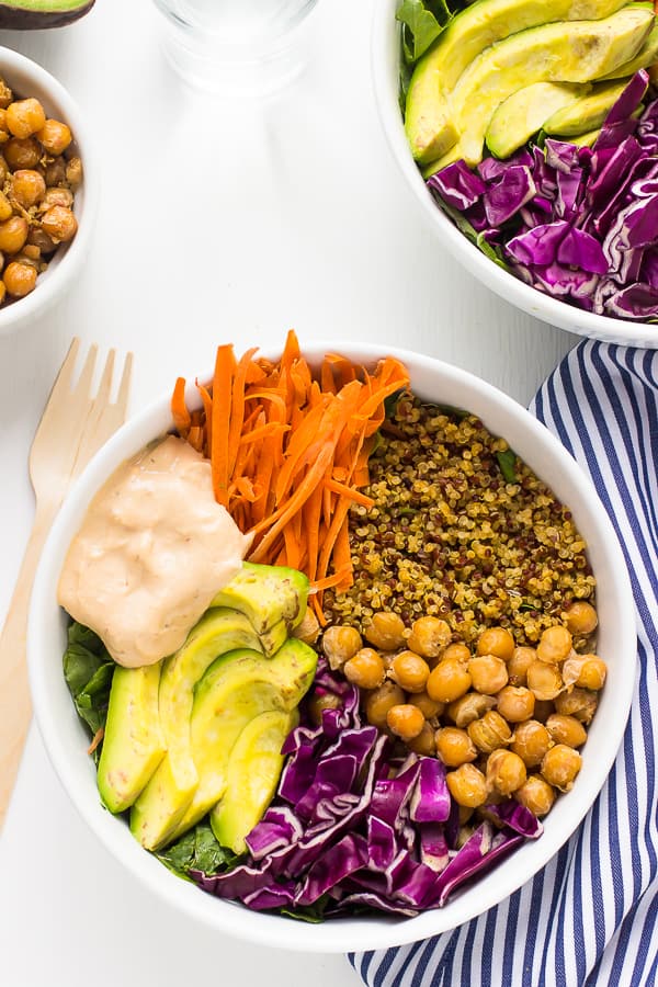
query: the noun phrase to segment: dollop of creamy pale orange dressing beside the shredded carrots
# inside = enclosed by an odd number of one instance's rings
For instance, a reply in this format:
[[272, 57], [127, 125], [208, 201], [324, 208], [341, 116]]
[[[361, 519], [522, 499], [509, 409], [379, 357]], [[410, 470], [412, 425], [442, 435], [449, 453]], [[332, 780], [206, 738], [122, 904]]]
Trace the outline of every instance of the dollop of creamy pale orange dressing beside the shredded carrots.
[[151, 665], [181, 647], [249, 544], [215, 500], [208, 461], [168, 435], [124, 463], [92, 500], [58, 601], [120, 665]]

